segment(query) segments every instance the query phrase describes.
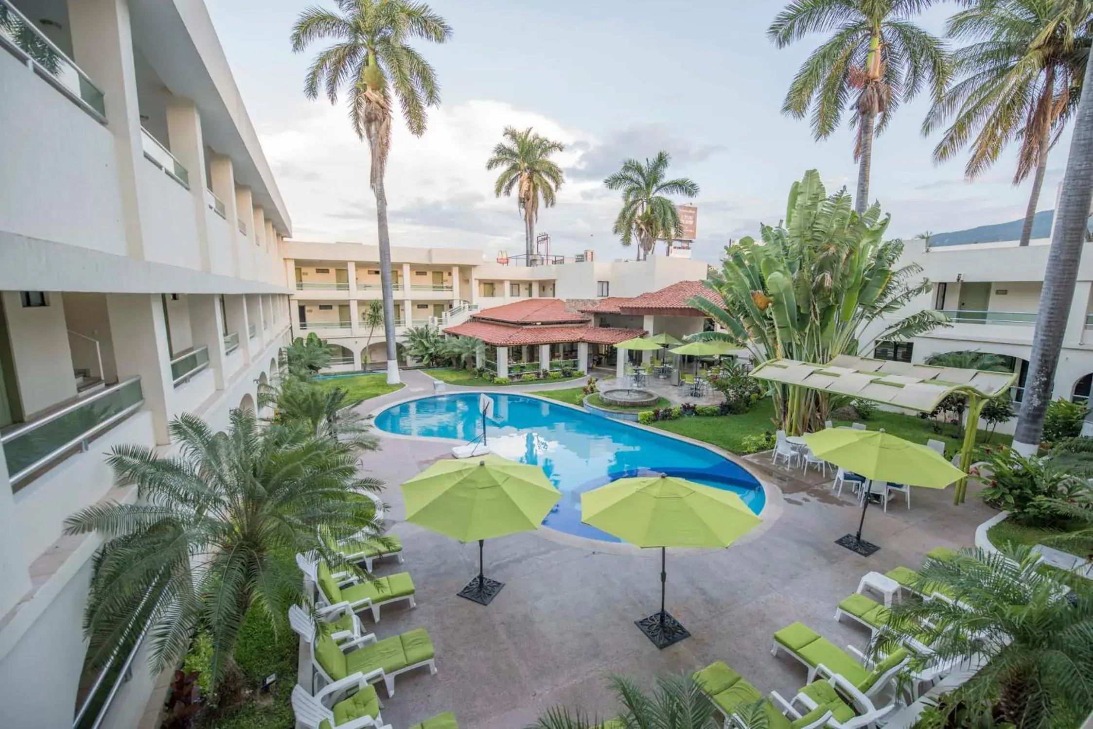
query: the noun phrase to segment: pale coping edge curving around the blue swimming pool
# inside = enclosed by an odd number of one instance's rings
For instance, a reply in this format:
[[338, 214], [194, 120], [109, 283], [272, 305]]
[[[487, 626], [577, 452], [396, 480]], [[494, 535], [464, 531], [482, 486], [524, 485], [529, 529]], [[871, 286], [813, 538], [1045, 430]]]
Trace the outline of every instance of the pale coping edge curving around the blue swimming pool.
[[[371, 421], [375, 421], [376, 415], [384, 412], [385, 410], [389, 410], [391, 408], [404, 404], [407, 402], [413, 402], [414, 400], [425, 400], [428, 398], [444, 397], [448, 395], [458, 396], [458, 395], [473, 395], [473, 393], [517, 395], [524, 398], [530, 398], [532, 400], [541, 400], [542, 402], [546, 402], [549, 404], [569, 408], [571, 410], [584, 413], [585, 415], [591, 414], [584, 408], [578, 408], [577, 405], [572, 405], [568, 402], [562, 402], [561, 400], [554, 400], [553, 398], [545, 398], [541, 395], [533, 395], [531, 392], [513, 392], [512, 390], [505, 390], [505, 389], [477, 389], [477, 390], [462, 389], [454, 392], [430, 392], [426, 395], [416, 395], [410, 398], [393, 400], [391, 402], [388, 402], [387, 404], [384, 404], [379, 408], [372, 410], [366, 414], [366, 418]], [[615, 419], [611, 420], [613, 420], [616, 423], [628, 425], [631, 427], [640, 428], [648, 433], [655, 433], [666, 438], [674, 438], [677, 440], [682, 440], [683, 443], [689, 443], [693, 446], [698, 446], [700, 448], [705, 448], [706, 450], [709, 450], [710, 452], [716, 454], [732, 463], [736, 463], [737, 466], [742, 468], [749, 475], [755, 479], [755, 481], [759, 482], [759, 484], [763, 487], [764, 504], [762, 510], [760, 510], [760, 513], [756, 516], [763, 520], [763, 524], [755, 527], [743, 537], [737, 539], [736, 541], [732, 542], [732, 544], [730, 544], [725, 549], [731, 549], [737, 544], [747, 544], [748, 542], [759, 539], [760, 537], [765, 534], [767, 530], [771, 529], [771, 527], [774, 526], [775, 521], [781, 518], [783, 510], [785, 509], [785, 499], [783, 497], [781, 490], [778, 489], [778, 486], [773, 482], [767, 481], [765, 478], [761, 478], [759, 474], [756, 474], [750, 467], [750, 463], [748, 463], [748, 461], [745, 461], [742, 457], [731, 451], [725, 450], [724, 448], [719, 448], [718, 446], [715, 446], [712, 443], [706, 443], [705, 440], [697, 440], [695, 438], [690, 438], [685, 435], [669, 433], [668, 431], [661, 431], [658, 427], [653, 427], [650, 425], [643, 425], [642, 423], [633, 421], [623, 421]], [[450, 443], [456, 445], [465, 444], [465, 442], [459, 438], [440, 438], [436, 436], [402, 435], [401, 433], [390, 433], [388, 431], [381, 431], [378, 427], [375, 427], [375, 425], [373, 425], [373, 433], [377, 434], [377, 437], [379, 438], [393, 438], [401, 440], [426, 440], [426, 442], [444, 443], [444, 444]], [[557, 542], [560, 544], [565, 544], [567, 546], [579, 546], [581, 549], [587, 549], [595, 552], [602, 552], [609, 554], [625, 554], [625, 555], [644, 554], [645, 556], [649, 557], [656, 556], [654, 551], [640, 546], [635, 546], [633, 544], [627, 544], [626, 542], [604, 542], [598, 539], [590, 539], [588, 537], [577, 537], [576, 534], [569, 534], [564, 531], [559, 531], [557, 529], [552, 529], [550, 527], [536, 529], [534, 533], [543, 537], [544, 539]], [[719, 549], [695, 549], [690, 546], [670, 546], [668, 549], [672, 550], [674, 554], [681, 556], [686, 554], [698, 554], [704, 552], [720, 551]]]

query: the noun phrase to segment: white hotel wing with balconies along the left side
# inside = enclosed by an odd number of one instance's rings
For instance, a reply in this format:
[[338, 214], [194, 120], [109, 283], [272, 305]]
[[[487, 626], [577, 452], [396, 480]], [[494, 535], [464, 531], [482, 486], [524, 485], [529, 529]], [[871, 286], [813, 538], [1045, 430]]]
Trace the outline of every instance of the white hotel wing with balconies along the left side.
[[254, 405], [292, 223], [201, 2], [0, 0], [0, 726], [137, 727], [144, 656], [84, 674], [101, 540], [64, 519], [134, 497], [113, 446]]

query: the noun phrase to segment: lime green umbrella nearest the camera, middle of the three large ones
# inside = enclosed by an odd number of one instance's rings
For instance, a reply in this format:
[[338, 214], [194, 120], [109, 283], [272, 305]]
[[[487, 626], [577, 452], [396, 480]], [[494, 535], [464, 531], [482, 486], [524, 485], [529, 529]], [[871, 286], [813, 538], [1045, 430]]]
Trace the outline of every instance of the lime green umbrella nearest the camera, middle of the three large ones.
[[725, 548], [762, 519], [737, 494], [685, 479], [619, 479], [580, 495], [580, 520], [642, 548], [660, 548], [660, 612], [634, 621], [658, 648], [691, 635], [665, 610], [668, 546]]

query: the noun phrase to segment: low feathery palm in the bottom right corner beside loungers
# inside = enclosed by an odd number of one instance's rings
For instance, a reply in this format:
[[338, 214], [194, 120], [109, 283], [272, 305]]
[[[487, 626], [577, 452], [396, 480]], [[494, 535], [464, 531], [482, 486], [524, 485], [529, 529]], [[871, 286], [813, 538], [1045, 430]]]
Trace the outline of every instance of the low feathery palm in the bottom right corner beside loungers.
[[914, 657], [913, 668], [986, 659], [942, 705], [969, 713], [960, 726], [1077, 727], [1093, 710], [1093, 587], [1072, 579], [1068, 593], [1058, 575], [1043, 571], [1031, 548], [1010, 543], [999, 553], [927, 558], [919, 585], [953, 602], [894, 605], [874, 650], [914, 638], [930, 651]]

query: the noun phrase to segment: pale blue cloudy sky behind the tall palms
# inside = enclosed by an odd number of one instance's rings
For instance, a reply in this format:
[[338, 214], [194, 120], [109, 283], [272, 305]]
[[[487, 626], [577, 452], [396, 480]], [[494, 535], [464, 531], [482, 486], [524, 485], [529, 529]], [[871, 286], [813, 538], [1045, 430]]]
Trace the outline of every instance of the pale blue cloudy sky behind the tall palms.
[[[328, 8], [331, 0], [315, 0]], [[344, 98], [312, 102], [303, 81], [326, 43], [293, 54], [289, 34], [306, 4], [207, 0], [250, 118], [299, 240], [376, 243], [368, 150], [353, 134]], [[769, 0], [432, 0], [454, 33], [416, 43], [436, 70], [442, 103], [424, 136], [398, 120], [387, 165], [391, 245], [524, 251], [515, 198], [495, 198], [485, 169], [506, 126], [533, 127], [563, 142], [557, 204], [540, 209], [552, 254], [592, 249], [633, 256], [611, 233], [620, 198], [602, 180], [623, 160], [672, 156], [670, 174], [701, 192], [693, 254], [716, 261], [730, 239], [759, 237], [785, 216], [789, 186], [818, 169], [828, 190], [857, 179], [854, 132], [815, 141], [807, 120], [780, 113], [794, 74], [822, 36], [776, 48]], [[666, 9], [670, 8], [670, 12]], [[919, 24], [941, 34], [952, 3]], [[929, 99], [904, 103], [873, 143], [870, 198], [892, 216], [892, 237], [910, 238], [1022, 217], [1031, 181], [1012, 185], [1015, 149], [974, 183], [966, 157], [936, 165], [938, 136], [920, 126]], [[1039, 210], [1054, 207], [1069, 133], [1051, 152]], [[678, 200], [684, 202], [684, 200]], [[661, 245], [662, 249], [662, 245]]]

